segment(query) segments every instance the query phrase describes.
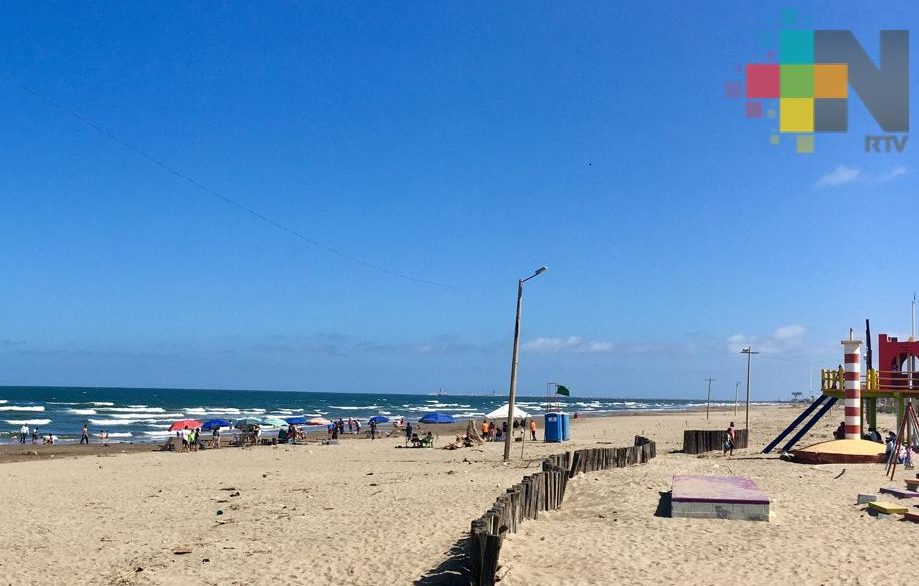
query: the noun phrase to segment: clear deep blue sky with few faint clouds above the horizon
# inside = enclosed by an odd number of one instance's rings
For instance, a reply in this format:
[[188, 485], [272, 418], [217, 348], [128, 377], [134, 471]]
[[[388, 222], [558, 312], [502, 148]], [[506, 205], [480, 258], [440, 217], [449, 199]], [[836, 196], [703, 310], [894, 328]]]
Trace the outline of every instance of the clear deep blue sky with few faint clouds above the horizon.
[[[0, 6], [0, 384], [501, 392], [540, 265], [522, 392], [733, 397], [752, 344], [787, 398], [908, 334], [919, 147], [855, 98], [770, 145], [725, 83], [789, 5], [645, 4]], [[917, 19], [795, 17], [875, 59]]]

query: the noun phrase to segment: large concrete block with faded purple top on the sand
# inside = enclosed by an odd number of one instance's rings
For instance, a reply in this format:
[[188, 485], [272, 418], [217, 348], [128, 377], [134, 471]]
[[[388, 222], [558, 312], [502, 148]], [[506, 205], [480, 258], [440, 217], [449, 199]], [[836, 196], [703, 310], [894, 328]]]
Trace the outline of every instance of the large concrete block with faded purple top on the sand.
[[672, 517], [769, 520], [769, 497], [740, 476], [674, 476], [670, 502]]

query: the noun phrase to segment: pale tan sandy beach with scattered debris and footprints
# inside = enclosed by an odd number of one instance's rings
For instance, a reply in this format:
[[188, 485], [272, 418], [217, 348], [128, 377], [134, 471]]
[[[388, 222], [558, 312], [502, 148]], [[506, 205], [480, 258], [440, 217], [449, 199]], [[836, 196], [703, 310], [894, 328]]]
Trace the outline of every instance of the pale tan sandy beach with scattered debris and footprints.
[[[841, 410], [801, 445], [829, 439]], [[455, 451], [402, 440], [158, 453], [114, 446], [0, 464], [0, 576], [10, 584], [463, 584], [470, 521], [542, 455], [657, 442], [650, 464], [580, 476], [557, 512], [525, 523], [502, 551], [502, 583], [906, 583], [894, 548], [911, 524], [869, 517], [883, 466], [805, 466], [759, 455], [800, 407], [755, 407], [751, 447], [676, 453], [684, 429], [742, 427], [743, 411], [580, 419], [567, 446]], [[881, 428], [893, 426], [890, 416]], [[436, 431], [436, 428], [434, 428]], [[438, 446], [451, 437], [445, 432]], [[15, 451], [15, 449], [14, 449]], [[41, 446], [36, 451], [41, 451]], [[6, 458], [11, 460], [14, 458]], [[769, 523], [656, 517], [674, 474], [753, 478]], [[914, 476], [899, 469], [897, 481]], [[188, 553], [176, 552], [188, 551]]]

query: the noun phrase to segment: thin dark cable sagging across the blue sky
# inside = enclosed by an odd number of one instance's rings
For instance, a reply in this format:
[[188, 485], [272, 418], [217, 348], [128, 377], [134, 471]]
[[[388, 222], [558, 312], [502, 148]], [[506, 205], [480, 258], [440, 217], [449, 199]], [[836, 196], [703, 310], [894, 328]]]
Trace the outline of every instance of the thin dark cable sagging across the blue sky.
[[261, 222], [263, 222], [263, 223], [265, 223], [265, 224], [267, 224], [267, 225], [269, 225], [269, 226], [271, 226], [271, 227], [273, 227], [273, 228], [275, 228], [275, 229], [281, 230], [282, 232], [286, 232], [287, 234], [289, 234], [289, 235], [291, 235], [291, 236], [293, 236], [293, 237], [295, 237], [295, 238], [298, 238], [298, 239], [302, 240], [303, 242], [306, 242], [307, 244], [310, 244], [310, 245], [312, 245], [312, 246], [315, 246], [316, 248], [318, 248], [318, 249], [320, 249], [320, 250], [322, 250], [322, 251], [324, 251], [324, 252], [326, 252], [326, 253], [328, 253], [328, 254], [332, 254], [332, 255], [337, 256], [337, 257], [339, 257], [339, 258], [342, 258], [342, 259], [344, 259], [344, 260], [347, 260], [347, 261], [350, 261], [350, 262], [359, 264], [359, 265], [361, 265], [361, 266], [363, 266], [363, 267], [365, 267], [365, 268], [368, 268], [368, 269], [377, 271], [377, 272], [379, 272], [379, 273], [383, 273], [383, 274], [385, 274], [385, 275], [389, 275], [389, 276], [391, 276], [391, 277], [396, 277], [396, 278], [399, 278], [399, 279], [404, 279], [404, 280], [406, 280], [406, 281], [411, 281], [411, 282], [413, 282], [413, 283], [420, 283], [420, 284], [423, 284], [423, 285], [431, 285], [431, 286], [434, 286], [434, 287], [443, 287], [443, 288], [446, 288], [446, 289], [459, 289], [459, 288], [460, 288], [460, 287], [457, 287], [456, 285], [450, 285], [450, 284], [448, 284], [448, 283], [440, 283], [440, 282], [438, 282], [438, 281], [431, 281], [431, 280], [428, 280], [428, 279], [421, 279], [421, 278], [418, 278], [418, 277], [413, 277], [413, 276], [411, 276], [411, 275], [407, 275], [407, 274], [405, 274], [405, 273], [400, 273], [400, 272], [398, 272], [398, 271], [393, 271], [393, 270], [387, 269], [387, 268], [385, 268], [385, 267], [382, 267], [382, 266], [380, 266], [380, 265], [377, 265], [377, 264], [371, 263], [371, 262], [369, 262], [369, 261], [366, 261], [366, 260], [364, 260], [364, 259], [362, 259], [362, 258], [359, 258], [359, 257], [357, 257], [357, 256], [354, 256], [354, 255], [352, 255], [352, 254], [348, 254], [347, 252], [344, 252], [344, 251], [342, 251], [342, 250], [339, 250], [339, 249], [337, 249], [337, 248], [334, 248], [334, 247], [332, 247], [332, 246], [329, 246], [328, 244], [325, 244], [325, 243], [320, 242], [320, 241], [318, 241], [318, 240], [315, 240], [315, 239], [313, 239], [313, 238], [310, 238], [309, 236], [306, 236], [306, 235], [303, 234], [302, 232], [299, 232], [299, 231], [297, 231], [297, 230], [295, 230], [295, 229], [293, 229], [293, 228], [290, 228], [290, 227], [288, 227], [288, 226], [285, 226], [284, 224], [281, 224], [280, 222], [278, 222], [278, 221], [276, 221], [276, 220], [274, 220], [274, 219], [272, 219], [272, 218], [270, 218], [270, 217], [268, 217], [268, 216], [262, 214], [261, 212], [255, 210], [255, 209], [253, 209], [253, 208], [250, 208], [250, 207], [248, 207], [248, 206], [246, 206], [246, 205], [244, 205], [244, 204], [242, 204], [242, 203], [236, 201], [235, 199], [233, 199], [233, 198], [231, 198], [231, 197], [229, 197], [229, 196], [227, 196], [227, 195], [224, 195], [223, 193], [220, 193], [219, 191], [217, 191], [217, 190], [215, 190], [215, 189], [211, 189], [210, 187], [208, 187], [207, 185], [204, 185], [203, 183], [201, 183], [201, 182], [198, 181], [197, 179], [195, 179], [195, 178], [193, 178], [193, 177], [191, 177], [191, 176], [189, 176], [189, 175], [187, 175], [187, 174], [185, 174], [185, 173], [179, 171], [179, 170], [176, 169], [175, 167], [173, 167], [173, 166], [171, 166], [171, 165], [169, 165], [169, 164], [167, 164], [167, 163], [164, 163], [163, 161], [161, 161], [160, 159], [154, 157], [153, 155], [149, 154], [148, 152], [146, 152], [146, 151], [144, 151], [144, 150], [142, 150], [142, 149], [140, 149], [140, 148], [138, 148], [138, 147], [132, 145], [131, 143], [129, 143], [129, 142], [123, 140], [122, 138], [120, 138], [120, 137], [117, 136], [116, 134], [114, 134], [114, 133], [112, 133], [111, 131], [109, 131], [108, 129], [106, 129], [106, 128], [105, 128], [104, 126], [102, 126], [101, 124], [99, 124], [99, 123], [97, 123], [97, 122], [95, 122], [95, 121], [93, 121], [93, 120], [87, 118], [86, 116], [84, 116], [83, 114], [77, 112], [76, 110], [74, 110], [74, 109], [72, 109], [72, 108], [67, 108], [67, 107], [65, 107], [65, 106], [63, 106], [63, 105], [61, 105], [61, 104], [55, 102], [55, 101], [52, 100], [51, 98], [49, 98], [49, 97], [47, 97], [47, 96], [45, 96], [45, 95], [43, 95], [43, 94], [41, 94], [41, 93], [35, 91], [35, 90], [32, 89], [31, 87], [29, 87], [29, 86], [27, 86], [26, 84], [22, 83], [22, 82], [19, 81], [18, 79], [12, 77], [12, 76], [9, 75], [8, 73], [3, 72], [3, 71], [0, 71], [0, 76], [2, 76], [3, 78], [5, 78], [6, 81], [7, 81], [8, 83], [10, 83], [11, 85], [13, 85], [13, 86], [15, 86], [15, 87], [18, 87], [18, 88], [21, 89], [22, 91], [24, 91], [24, 92], [30, 94], [32, 97], [34, 97], [34, 98], [36, 98], [36, 99], [38, 99], [38, 100], [40, 100], [40, 101], [42, 101], [42, 102], [48, 104], [49, 106], [51, 106], [51, 107], [54, 108], [55, 110], [58, 110], [59, 112], [63, 112], [64, 114], [68, 114], [68, 115], [72, 116], [73, 118], [76, 118], [76, 119], [79, 120], [81, 123], [85, 124], [86, 126], [89, 126], [90, 128], [92, 128], [93, 130], [95, 130], [95, 131], [98, 132], [99, 134], [105, 136], [105, 137], [108, 138], [109, 140], [111, 140], [111, 141], [115, 142], [116, 144], [118, 144], [118, 145], [120, 145], [120, 146], [126, 148], [127, 150], [129, 150], [129, 151], [131, 151], [132, 153], [134, 153], [135, 155], [137, 155], [137, 156], [139, 156], [139, 157], [141, 157], [141, 158], [147, 160], [148, 162], [153, 163], [154, 165], [156, 165], [157, 167], [163, 169], [164, 171], [166, 171], [166, 172], [168, 172], [168, 173], [171, 173], [172, 175], [174, 175], [175, 177], [177, 177], [177, 178], [179, 178], [179, 179], [185, 181], [186, 183], [189, 183], [190, 185], [192, 185], [193, 187], [197, 188], [198, 190], [203, 191], [204, 193], [207, 193], [208, 195], [215, 197], [216, 199], [218, 199], [218, 200], [224, 202], [225, 204], [227, 204], [227, 205], [229, 205], [229, 206], [232, 206], [232, 207], [234, 207], [234, 208], [236, 208], [236, 209], [238, 209], [238, 210], [240, 210], [240, 211], [242, 211], [242, 212], [244, 212], [244, 213], [249, 214], [250, 216], [256, 218], [257, 220], [259, 220], [259, 221], [261, 221]]

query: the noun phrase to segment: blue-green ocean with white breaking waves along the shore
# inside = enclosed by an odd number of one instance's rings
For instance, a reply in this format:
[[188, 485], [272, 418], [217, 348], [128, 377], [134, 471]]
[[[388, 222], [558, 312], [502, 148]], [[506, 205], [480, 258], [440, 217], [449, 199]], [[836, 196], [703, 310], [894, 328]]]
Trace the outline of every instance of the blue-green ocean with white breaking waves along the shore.
[[[553, 398], [568, 413], [682, 410], [705, 405], [683, 399]], [[507, 402], [504, 395], [409, 395], [385, 393], [317, 393], [219, 389], [138, 389], [90, 387], [0, 387], [0, 443], [17, 441], [19, 428], [38, 428], [58, 441], [79, 441], [83, 424], [93, 435], [107, 431], [112, 442], [162, 441], [179, 419], [304, 415], [326, 419], [349, 417], [366, 424], [374, 415], [416, 421], [440, 411], [455, 419], [481, 418]], [[532, 415], [546, 412], [546, 397], [518, 397], [518, 408]], [[725, 405], [726, 403], [712, 403]]]

